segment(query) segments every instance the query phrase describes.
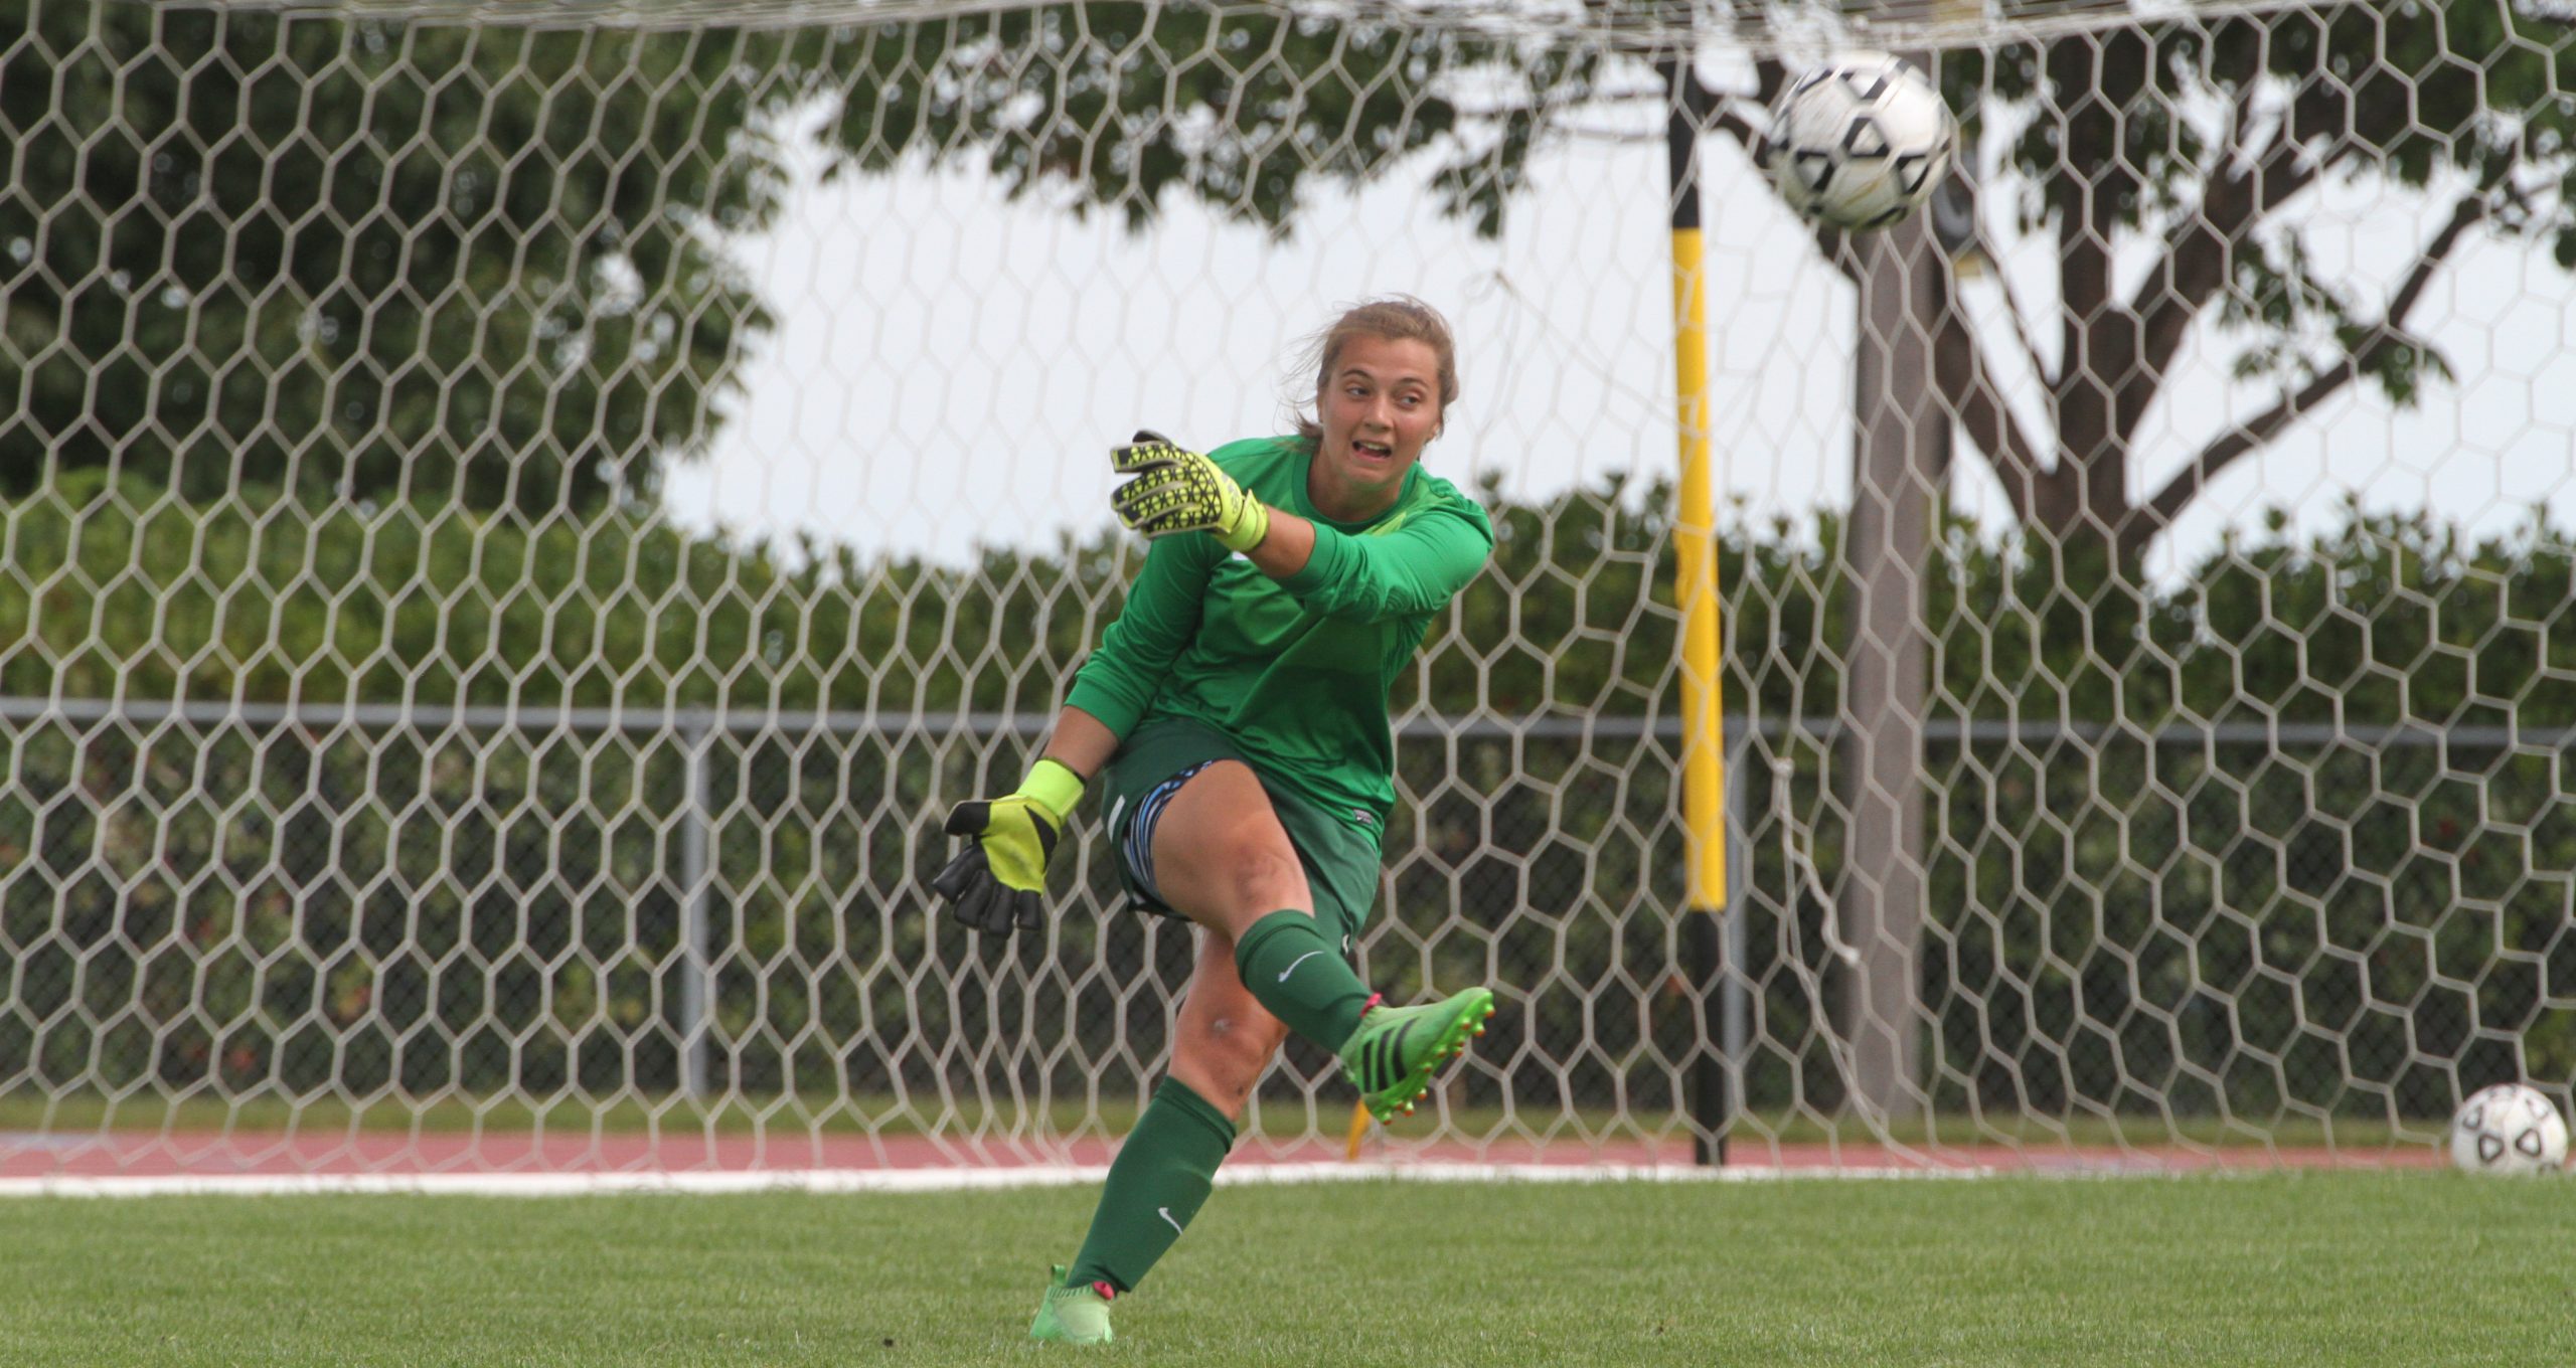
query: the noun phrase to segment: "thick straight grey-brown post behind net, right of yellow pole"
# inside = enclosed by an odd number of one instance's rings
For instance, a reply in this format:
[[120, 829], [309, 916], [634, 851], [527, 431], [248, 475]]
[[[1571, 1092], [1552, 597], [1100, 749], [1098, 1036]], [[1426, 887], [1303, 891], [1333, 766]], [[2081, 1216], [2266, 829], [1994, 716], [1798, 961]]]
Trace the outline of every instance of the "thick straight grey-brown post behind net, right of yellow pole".
[[1947, 477], [1950, 417], [1932, 386], [1947, 291], [1922, 214], [1852, 240], [1860, 252], [1852, 518], [1844, 556], [1860, 595], [1844, 667], [1844, 964], [1834, 1025], [1850, 1046], [1847, 1105], [1893, 1116], [1924, 1105], [1917, 961], [1924, 917], [1922, 739], [1927, 654], [1922, 575], [1932, 500]]

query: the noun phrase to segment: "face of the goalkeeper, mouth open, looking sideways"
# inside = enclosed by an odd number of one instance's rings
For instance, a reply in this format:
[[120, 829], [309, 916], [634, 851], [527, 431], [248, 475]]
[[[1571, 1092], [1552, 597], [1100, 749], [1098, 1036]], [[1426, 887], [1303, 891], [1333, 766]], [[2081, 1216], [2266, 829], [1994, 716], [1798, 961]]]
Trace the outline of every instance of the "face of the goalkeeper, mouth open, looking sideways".
[[1350, 337], [1316, 394], [1324, 443], [1306, 492], [1327, 518], [1386, 513], [1440, 433], [1440, 356], [1414, 337]]

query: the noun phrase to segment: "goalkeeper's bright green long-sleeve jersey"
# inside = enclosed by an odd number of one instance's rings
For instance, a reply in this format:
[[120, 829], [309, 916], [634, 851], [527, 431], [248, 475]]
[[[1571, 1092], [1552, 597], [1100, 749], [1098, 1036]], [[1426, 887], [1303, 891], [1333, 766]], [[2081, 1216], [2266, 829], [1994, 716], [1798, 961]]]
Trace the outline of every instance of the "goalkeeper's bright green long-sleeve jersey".
[[1121, 737], [1164, 716], [1216, 727], [1265, 781], [1383, 835], [1396, 801], [1386, 693], [1494, 551], [1494, 526], [1422, 466], [1386, 513], [1334, 523], [1306, 497], [1306, 438], [1208, 456], [1257, 500], [1311, 520], [1314, 556], [1273, 580], [1213, 536], [1154, 541], [1066, 703]]

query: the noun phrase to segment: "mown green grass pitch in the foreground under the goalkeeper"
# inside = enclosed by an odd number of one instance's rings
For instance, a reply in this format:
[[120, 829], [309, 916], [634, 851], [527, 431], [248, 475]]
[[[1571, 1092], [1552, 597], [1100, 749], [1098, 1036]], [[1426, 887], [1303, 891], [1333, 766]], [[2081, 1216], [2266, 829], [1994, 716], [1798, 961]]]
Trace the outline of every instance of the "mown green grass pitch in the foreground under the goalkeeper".
[[[1090, 1201], [0, 1201], [0, 1358], [1028, 1365]], [[2522, 1368], [2571, 1231], [2576, 1180], [2450, 1172], [1226, 1188], [1103, 1358]]]

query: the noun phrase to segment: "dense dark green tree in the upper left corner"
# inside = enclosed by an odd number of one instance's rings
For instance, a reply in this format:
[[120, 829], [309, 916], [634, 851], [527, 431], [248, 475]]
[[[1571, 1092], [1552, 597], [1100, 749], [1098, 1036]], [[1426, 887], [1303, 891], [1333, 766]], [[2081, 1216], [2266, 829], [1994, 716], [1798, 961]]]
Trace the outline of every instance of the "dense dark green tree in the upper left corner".
[[768, 327], [781, 54], [0, 0], [0, 495], [649, 495]]

